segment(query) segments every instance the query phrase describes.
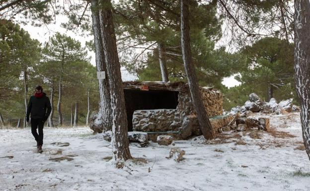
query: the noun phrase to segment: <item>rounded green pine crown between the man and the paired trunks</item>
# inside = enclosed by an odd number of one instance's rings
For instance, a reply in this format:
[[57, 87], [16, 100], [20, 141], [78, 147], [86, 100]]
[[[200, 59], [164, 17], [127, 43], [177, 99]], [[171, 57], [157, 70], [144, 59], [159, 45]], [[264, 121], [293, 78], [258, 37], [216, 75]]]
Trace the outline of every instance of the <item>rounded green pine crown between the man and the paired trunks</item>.
[[[94, 101], [98, 100], [98, 96], [96, 69], [86, 58], [85, 48], [81, 47], [80, 42], [60, 33], [52, 36], [43, 49], [43, 62], [40, 64], [39, 73], [45, 79], [44, 83], [53, 85], [57, 90], [59, 80], [62, 78], [62, 113], [65, 122], [69, 121], [71, 108], [78, 102], [79, 113], [82, 116], [79, 119], [84, 123], [88, 89], [91, 105], [96, 105]], [[58, 97], [58, 94], [55, 96]], [[56, 110], [55, 112], [57, 114]]]

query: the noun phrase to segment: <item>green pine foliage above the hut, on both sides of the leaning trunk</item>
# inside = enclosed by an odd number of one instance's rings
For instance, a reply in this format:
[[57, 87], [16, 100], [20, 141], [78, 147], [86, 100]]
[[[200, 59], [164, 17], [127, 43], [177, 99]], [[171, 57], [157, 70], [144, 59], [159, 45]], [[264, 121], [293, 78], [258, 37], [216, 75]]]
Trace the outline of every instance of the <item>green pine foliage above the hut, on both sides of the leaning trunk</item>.
[[[239, 59], [215, 50], [215, 42], [221, 37], [222, 18], [217, 16], [217, 2], [190, 1], [190, 31], [193, 64], [200, 85], [221, 86], [223, 77], [230, 76], [240, 65]], [[186, 81], [180, 46], [180, 7], [177, 1], [158, 2], [122, 0], [116, 5], [117, 32], [124, 40], [121, 52], [131, 57], [123, 58], [123, 65], [137, 73], [139, 80], [161, 80], [157, 43], [163, 44], [164, 57], [170, 81]], [[132, 46], [126, 46], [130, 39]], [[124, 45], [125, 46], [122, 46]], [[135, 53], [133, 48], [147, 54]], [[131, 52], [130, 52], [131, 50]], [[132, 56], [134, 55], [134, 56]], [[232, 64], [233, 63], [233, 64]]]

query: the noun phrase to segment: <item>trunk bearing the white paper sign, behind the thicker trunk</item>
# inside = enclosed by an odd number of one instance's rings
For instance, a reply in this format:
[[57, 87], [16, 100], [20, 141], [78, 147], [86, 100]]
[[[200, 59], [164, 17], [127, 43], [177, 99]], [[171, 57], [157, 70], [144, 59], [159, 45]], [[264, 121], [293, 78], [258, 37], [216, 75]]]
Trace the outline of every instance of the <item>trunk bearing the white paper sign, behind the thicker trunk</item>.
[[[100, 0], [101, 1], [101, 0]], [[99, 7], [99, 0], [91, 0], [91, 17], [92, 28], [94, 33], [94, 45], [95, 45], [95, 59], [97, 71], [107, 71], [105, 63], [105, 55], [103, 51], [103, 41], [101, 37], [101, 14]], [[105, 79], [98, 79], [99, 84], [99, 116], [102, 119], [103, 129], [112, 128], [112, 109], [111, 109], [111, 93], [109, 87], [109, 77], [105, 75]]]

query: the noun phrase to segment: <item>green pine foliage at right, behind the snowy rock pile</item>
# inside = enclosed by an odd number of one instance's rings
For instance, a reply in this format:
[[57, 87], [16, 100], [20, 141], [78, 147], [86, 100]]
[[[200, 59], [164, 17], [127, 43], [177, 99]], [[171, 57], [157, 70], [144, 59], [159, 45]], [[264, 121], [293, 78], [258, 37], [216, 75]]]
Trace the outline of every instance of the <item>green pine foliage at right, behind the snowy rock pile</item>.
[[272, 88], [272, 97], [282, 101], [299, 99], [294, 87], [294, 46], [278, 38], [266, 37], [252, 46], [244, 47], [239, 54], [244, 66], [239, 68], [235, 77], [241, 82], [237, 87], [222, 88], [225, 94], [224, 108], [243, 105], [248, 95], [255, 92], [262, 100], [268, 100], [268, 88]]

